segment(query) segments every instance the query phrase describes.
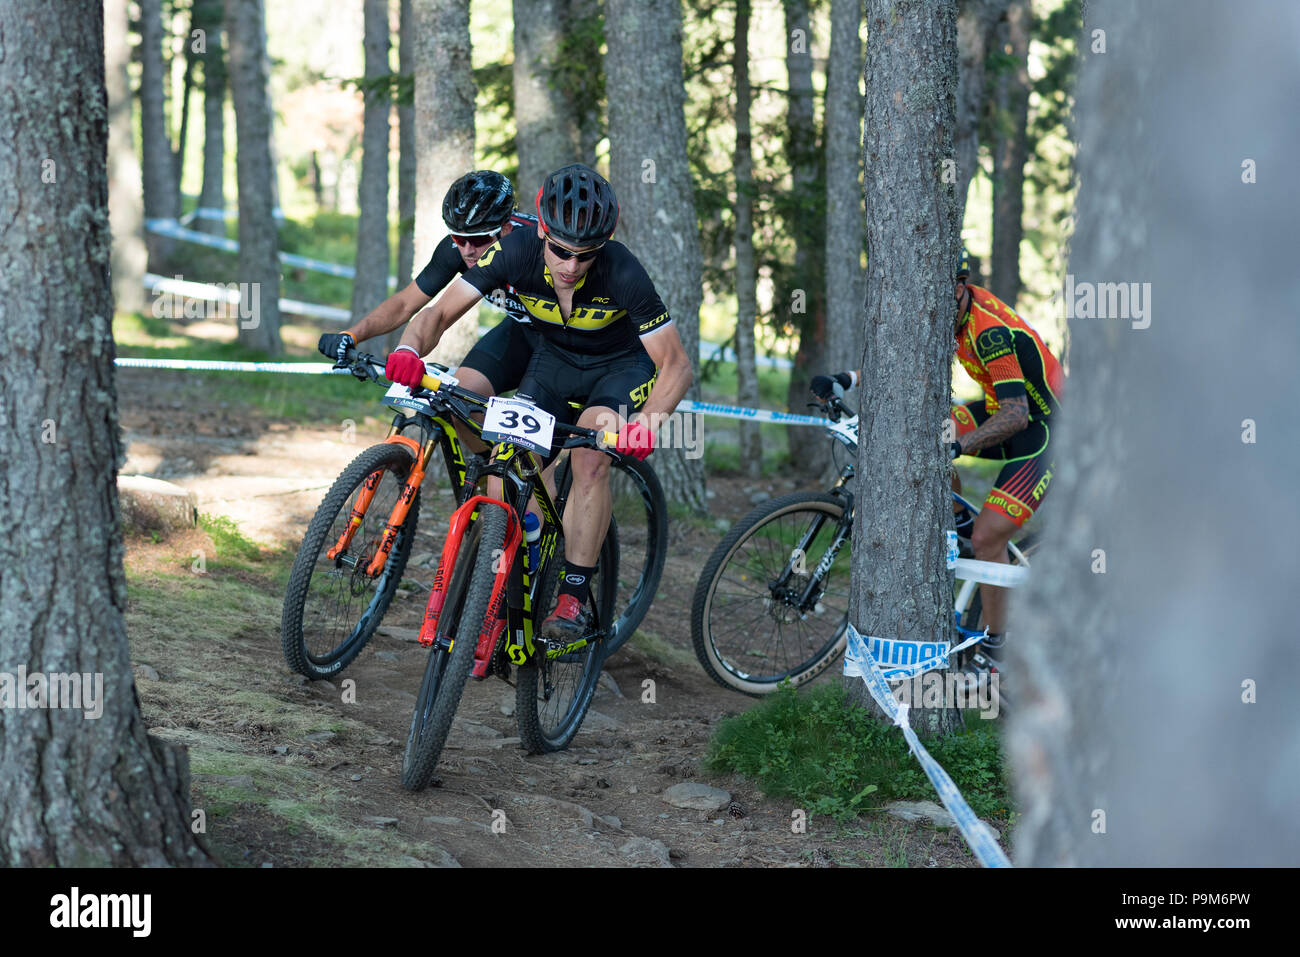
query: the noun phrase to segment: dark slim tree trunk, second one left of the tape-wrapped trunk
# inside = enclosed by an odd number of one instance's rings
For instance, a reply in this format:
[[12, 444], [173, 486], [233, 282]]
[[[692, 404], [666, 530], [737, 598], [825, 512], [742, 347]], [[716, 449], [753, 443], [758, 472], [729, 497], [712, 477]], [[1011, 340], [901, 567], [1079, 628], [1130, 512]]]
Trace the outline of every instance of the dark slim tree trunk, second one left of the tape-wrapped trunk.
[[[794, 212], [794, 282], [776, 308], [788, 309], [800, 334], [786, 404], [802, 412], [809, 400], [809, 382], [828, 369], [826, 342], [826, 270], [822, 254], [826, 220], [818, 215], [822, 192], [823, 155], [812, 112], [812, 29], [809, 0], [785, 0], [785, 70], [789, 77], [785, 152], [790, 161]], [[789, 428], [790, 468], [819, 476], [831, 465], [831, 443], [820, 429]]]

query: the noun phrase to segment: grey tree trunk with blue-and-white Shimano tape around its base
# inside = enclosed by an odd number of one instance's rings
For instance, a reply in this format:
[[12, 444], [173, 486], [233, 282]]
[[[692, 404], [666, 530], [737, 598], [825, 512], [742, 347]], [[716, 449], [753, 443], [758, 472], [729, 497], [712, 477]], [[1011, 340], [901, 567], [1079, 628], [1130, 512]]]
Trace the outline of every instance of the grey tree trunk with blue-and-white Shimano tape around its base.
[[[949, 183], [957, 87], [956, 0], [867, 0], [866, 364], [849, 620], [906, 641], [953, 633], [948, 417], [952, 263], [959, 247]], [[870, 702], [861, 679], [850, 694]], [[913, 727], [952, 731], [961, 713], [914, 710]]]

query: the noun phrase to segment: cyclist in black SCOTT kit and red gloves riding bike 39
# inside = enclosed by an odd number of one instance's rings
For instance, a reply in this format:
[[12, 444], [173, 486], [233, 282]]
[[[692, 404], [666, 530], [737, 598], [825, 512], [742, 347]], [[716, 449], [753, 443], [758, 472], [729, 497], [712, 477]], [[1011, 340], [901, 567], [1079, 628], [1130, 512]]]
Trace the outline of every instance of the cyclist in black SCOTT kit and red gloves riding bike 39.
[[[502, 237], [407, 326], [408, 348], [389, 355], [385, 374], [419, 382], [417, 356], [486, 290], [508, 285], [538, 335], [519, 394], [563, 423], [573, 416], [568, 400], [581, 402], [577, 425], [616, 421], [619, 451], [644, 459], [654, 449], [647, 423], [672, 412], [690, 385], [681, 337], [645, 268], [610, 239], [619, 204], [603, 177], [577, 164], [555, 170], [537, 191], [537, 215], [536, 230]], [[589, 625], [588, 585], [611, 512], [608, 456], [575, 449], [572, 467], [566, 566], [555, 611], [541, 627], [542, 637], [559, 641], [581, 637]]]

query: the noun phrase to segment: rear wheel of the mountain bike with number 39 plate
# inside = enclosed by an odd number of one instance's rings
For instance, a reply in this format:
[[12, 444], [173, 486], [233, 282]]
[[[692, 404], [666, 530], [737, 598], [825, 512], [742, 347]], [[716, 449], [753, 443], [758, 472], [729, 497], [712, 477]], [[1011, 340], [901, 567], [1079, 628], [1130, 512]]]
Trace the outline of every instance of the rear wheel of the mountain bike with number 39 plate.
[[[602, 642], [608, 641], [608, 623], [614, 615], [618, 596], [619, 537], [618, 527], [610, 523], [601, 555], [588, 593], [588, 607], [595, 614], [593, 635], [582, 648], [563, 655], [543, 657], [543, 645], [525, 664], [519, 666], [515, 680], [515, 714], [519, 722], [521, 745], [530, 754], [558, 752], [569, 745], [582, 719], [592, 706], [595, 684], [601, 677], [601, 664], [608, 654]], [[563, 568], [563, 538], [546, 570], [541, 589], [540, 611], [534, 620], [542, 622], [555, 605], [559, 570]]]

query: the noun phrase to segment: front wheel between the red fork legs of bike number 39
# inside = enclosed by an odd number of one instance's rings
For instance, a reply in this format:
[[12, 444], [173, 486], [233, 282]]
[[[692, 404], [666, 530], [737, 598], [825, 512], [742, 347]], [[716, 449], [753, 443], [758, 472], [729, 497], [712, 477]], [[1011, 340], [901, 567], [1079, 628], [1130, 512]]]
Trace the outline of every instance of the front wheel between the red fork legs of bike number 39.
[[[416, 696], [411, 731], [402, 758], [402, 787], [422, 791], [433, 778], [460, 694], [474, 662], [478, 632], [488, 615], [497, 557], [506, 544], [506, 512], [485, 506], [465, 532], [438, 619], [438, 636], [429, 649], [424, 681]], [[454, 636], [454, 637], [452, 637]], [[445, 640], [450, 646], [445, 648]]]

